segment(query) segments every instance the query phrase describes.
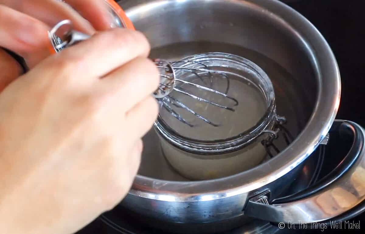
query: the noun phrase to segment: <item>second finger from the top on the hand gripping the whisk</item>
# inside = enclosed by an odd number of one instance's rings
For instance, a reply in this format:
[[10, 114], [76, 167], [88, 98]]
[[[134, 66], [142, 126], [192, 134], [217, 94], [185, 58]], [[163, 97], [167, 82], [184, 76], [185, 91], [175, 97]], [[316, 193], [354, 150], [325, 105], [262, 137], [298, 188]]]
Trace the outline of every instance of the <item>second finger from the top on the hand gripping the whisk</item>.
[[97, 88], [104, 89], [106, 93], [115, 93], [123, 100], [120, 108], [130, 110], [149, 97], [159, 82], [156, 65], [147, 58], [137, 58], [104, 77]]

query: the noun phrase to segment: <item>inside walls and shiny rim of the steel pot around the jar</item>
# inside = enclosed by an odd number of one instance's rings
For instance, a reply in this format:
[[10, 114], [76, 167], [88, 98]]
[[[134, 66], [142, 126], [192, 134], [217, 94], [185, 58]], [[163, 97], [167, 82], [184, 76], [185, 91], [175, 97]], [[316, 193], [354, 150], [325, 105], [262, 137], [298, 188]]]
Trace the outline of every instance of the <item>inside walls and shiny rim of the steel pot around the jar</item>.
[[249, 192], [301, 164], [327, 134], [339, 106], [337, 63], [316, 28], [287, 5], [276, 0], [135, 0], [119, 4], [149, 39], [152, 58], [228, 52], [264, 69], [274, 85], [277, 112], [287, 117], [287, 127], [296, 137], [289, 147], [281, 145], [279, 155], [249, 171], [191, 182], [169, 169], [151, 130], [144, 139], [142, 165], [131, 195], [168, 201], [172, 198], [165, 195], [173, 192], [173, 200], [194, 201]]

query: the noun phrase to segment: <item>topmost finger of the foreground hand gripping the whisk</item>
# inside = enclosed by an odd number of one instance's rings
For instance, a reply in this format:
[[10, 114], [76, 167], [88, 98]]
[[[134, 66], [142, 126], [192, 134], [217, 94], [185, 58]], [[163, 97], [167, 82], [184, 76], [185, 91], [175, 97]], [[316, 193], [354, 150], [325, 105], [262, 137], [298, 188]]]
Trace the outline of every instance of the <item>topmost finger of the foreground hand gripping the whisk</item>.
[[146, 58], [149, 51], [150, 45], [143, 34], [118, 28], [66, 48], [58, 54], [57, 61], [69, 61], [68, 69], [78, 82], [90, 81], [91, 77], [104, 77], [135, 58]]

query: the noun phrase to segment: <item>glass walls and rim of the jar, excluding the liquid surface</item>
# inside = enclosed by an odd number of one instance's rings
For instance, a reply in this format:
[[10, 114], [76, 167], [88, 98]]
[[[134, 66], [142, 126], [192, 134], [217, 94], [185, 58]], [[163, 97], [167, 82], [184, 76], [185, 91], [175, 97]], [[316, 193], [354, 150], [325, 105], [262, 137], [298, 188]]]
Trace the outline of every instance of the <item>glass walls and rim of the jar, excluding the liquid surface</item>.
[[[212, 134], [213, 131], [211, 134], [207, 134], [204, 139], [199, 138], [199, 129], [194, 128], [191, 130], [198, 131], [198, 133], [187, 137], [186, 134], [181, 133], [182, 131], [176, 130], [177, 124], [166, 120], [166, 117], [161, 117], [160, 113], [158, 120], [155, 122], [155, 130], [160, 137], [166, 160], [178, 173], [191, 180], [221, 178], [260, 164], [267, 155], [261, 141], [264, 133], [270, 131], [276, 121], [274, 91], [266, 73], [247, 59], [223, 53], [193, 55], [183, 60], [199, 63], [208, 61], [205, 65], [208, 64], [208, 66], [215, 67], [215, 69], [221, 69], [220, 71], [230, 75], [237, 75], [237, 79], [244, 80], [243, 83], [257, 88], [257, 92], [262, 95], [265, 102], [265, 109], [248, 129], [241, 131], [238, 121], [233, 136], [219, 138]], [[184, 66], [185, 64], [178, 65], [178, 67]], [[190, 63], [186, 66], [194, 65]], [[178, 71], [176, 75], [177, 77], [182, 76]], [[224, 114], [224, 112], [222, 113]], [[238, 111], [237, 114], [242, 115], [242, 113], [244, 112]], [[216, 113], [211, 113], [210, 116], [214, 114]], [[244, 119], [245, 116], [242, 116], [242, 118]], [[239, 119], [236, 117], [232, 120], [237, 121]], [[231, 123], [231, 125], [234, 126], [234, 123]], [[217, 128], [217, 131], [219, 131], [219, 128]]]

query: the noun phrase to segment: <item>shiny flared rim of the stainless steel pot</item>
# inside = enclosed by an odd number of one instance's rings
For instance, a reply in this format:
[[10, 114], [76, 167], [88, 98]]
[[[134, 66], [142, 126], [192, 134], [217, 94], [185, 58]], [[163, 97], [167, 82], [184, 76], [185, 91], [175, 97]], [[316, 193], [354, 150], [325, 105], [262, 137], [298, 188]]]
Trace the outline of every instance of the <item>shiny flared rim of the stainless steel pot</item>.
[[[240, 0], [232, 0], [239, 3]], [[140, 2], [140, 1], [139, 1]], [[151, 7], [168, 1], [144, 3]], [[307, 48], [318, 76], [318, 96], [306, 126], [289, 147], [273, 159], [236, 175], [204, 181], [174, 182], [137, 175], [128, 195], [168, 202], [196, 202], [245, 194], [281, 178], [303, 163], [329, 132], [338, 111], [341, 80], [335, 56], [322, 34], [299, 12], [278, 0], [246, 0], [254, 11], [264, 11], [295, 34]], [[138, 4], [135, 1], [134, 6]], [[126, 11], [127, 15], [134, 8]], [[275, 12], [275, 13], [274, 13]], [[294, 29], [295, 27], [295, 29]], [[293, 156], [295, 152], [296, 156]]]

